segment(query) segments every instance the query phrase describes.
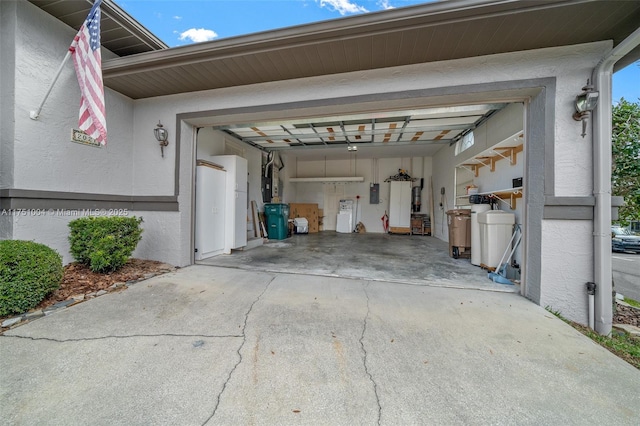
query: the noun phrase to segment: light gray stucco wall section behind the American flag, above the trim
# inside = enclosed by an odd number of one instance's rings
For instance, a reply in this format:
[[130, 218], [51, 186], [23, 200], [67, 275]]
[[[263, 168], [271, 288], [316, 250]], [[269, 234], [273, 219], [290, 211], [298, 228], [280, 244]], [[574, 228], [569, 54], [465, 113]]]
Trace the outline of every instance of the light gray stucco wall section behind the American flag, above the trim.
[[[80, 89], [73, 61], [65, 65], [42, 109], [55, 71], [76, 32], [26, 1], [16, 2], [14, 182], [19, 189], [131, 194], [133, 103], [105, 90], [108, 143], [93, 148], [70, 142], [78, 126]], [[103, 50], [103, 58], [113, 57]]]

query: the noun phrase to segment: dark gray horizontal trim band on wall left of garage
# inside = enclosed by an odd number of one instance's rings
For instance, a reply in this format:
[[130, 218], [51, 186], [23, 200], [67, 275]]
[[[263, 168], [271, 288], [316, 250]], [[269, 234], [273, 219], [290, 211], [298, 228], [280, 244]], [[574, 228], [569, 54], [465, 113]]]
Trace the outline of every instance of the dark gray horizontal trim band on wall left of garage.
[[127, 209], [131, 211], [179, 211], [176, 196], [135, 196], [79, 192], [0, 190], [2, 209]]

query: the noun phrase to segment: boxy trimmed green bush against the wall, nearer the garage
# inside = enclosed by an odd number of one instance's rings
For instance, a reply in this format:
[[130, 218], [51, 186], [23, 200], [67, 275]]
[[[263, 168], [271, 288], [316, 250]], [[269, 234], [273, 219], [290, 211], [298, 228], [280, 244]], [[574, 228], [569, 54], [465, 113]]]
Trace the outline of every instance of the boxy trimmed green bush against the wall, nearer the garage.
[[69, 223], [71, 255], [93, 272], [121, 268], [142, 239], [142, 218], [83, 217]]

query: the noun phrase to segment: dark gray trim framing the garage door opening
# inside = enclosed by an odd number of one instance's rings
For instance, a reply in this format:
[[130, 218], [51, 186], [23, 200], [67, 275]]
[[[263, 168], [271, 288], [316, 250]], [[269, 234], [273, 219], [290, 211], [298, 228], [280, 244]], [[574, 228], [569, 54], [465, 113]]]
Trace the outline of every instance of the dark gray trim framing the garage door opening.
[[[469, 100], [482, 99], [486, 101], [487, 98], [482, 98], [482, 95], [488, 92], [498, 92], [501, 100], [522, 102], [526, 100], [525, 98], [529, 98], [528, 103], [526, 103], [525, 113], [525, 137], [527, 140], [525, 173], [527, 179], [525, 180], [526, 188], [524, 194], [526, 203], [524, 243], [527, 263], [525, 266], [526, 285], [523, 286], [523, 293], [525, 297], [539, 304], [541, 299], [542, 221], [544, 218], [545, 195], [553, 195], [555, 179], [553, 154], [555, 143], [555, 77], [181, 113], [176, 115], [176, 142], [181, 138], [180, 124], [182, 122], [199, 127], [207, 125], [205, 120], [202, 120], [207, 117], [226, 116], [229, 117], [227, 123], [217, 124], [238, 124], [247, 120], [247, 117], [251, 114], [271, 113], [269, 119], [280, 119], [286, 118], [287, 111], [297, 111], [298, 114], [304, 114], [305, 109], [319, 107], [344, 107], [369, 103], [369, 108], [373, 104], [379, 104], [379, 109], [385, 109], [386, 104], [388, 109], [393, 108], [393, 106], [389, 105], [392, 101], [411, 100], [418, 105], [421, 99], [455, 95], [469, 95]], [[497, 98], [498, 96], [492, 97]], [[335, 113], [341, 114], [342, 112], [340, 108], [336, 108]], [[234, 115], [237, 117], [234, 118]], [[240, 116], [244, 117], [240, 118]], [[196, 149], [195, 144], [193, 149]], [[191, 167], [192, 169], [195, 167], [195, 162]], [[176, 182], [179, 181], [179, 176], [180, 170], [178, 169], [178, 163], [176, 163]], [[184, 178], [190, 178], [190, 175], [185, 175]], [[193, 215], [191, 221], [191, 232], [193, 233]], [[189, 255], [192, 259], [191, 262], [193, 262], [193, 241], [190, 250]]]

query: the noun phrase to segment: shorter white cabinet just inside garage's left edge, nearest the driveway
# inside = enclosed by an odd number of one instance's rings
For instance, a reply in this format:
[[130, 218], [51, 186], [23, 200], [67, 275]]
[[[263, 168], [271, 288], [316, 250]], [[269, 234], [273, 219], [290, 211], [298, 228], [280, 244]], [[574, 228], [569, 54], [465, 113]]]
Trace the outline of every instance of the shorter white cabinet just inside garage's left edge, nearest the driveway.
[[196, 167], [196, 260], [224, 252], [226, 174], [205, 162]]

